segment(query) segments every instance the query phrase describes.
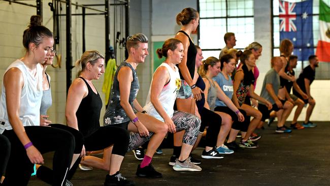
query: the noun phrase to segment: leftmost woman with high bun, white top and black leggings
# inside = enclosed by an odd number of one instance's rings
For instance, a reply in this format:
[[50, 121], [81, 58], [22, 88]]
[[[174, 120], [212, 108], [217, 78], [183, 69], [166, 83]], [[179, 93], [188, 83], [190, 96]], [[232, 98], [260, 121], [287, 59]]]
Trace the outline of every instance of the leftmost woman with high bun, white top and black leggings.
[[[6, 70], [0, 99], [0, 120], [11, 142], [11, 155], [3, 185], [27, 185], [34, 164], [43, 164], [42, 154], [55, 151], [52, 185], [65, 185], [74, 152], [74, 136], [64, 130], [40, 126], [43, 96], [42, 64], [53, 51], [53, 34], [32, 16], [24, 30], [21, 59]], [[19, 167], [19, 169], [18, 169]]]

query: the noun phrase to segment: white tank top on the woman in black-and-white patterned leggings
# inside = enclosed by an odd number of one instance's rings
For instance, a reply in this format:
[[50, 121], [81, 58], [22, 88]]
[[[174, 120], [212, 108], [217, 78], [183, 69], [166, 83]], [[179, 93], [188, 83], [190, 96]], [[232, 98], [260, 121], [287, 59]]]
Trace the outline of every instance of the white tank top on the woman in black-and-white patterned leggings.
[[[177, 98], [178, 91], [181, 86], [179, 70], [175, 66], [175, 71], [174, 71], [166, 63], [162, 63], [159, 67], [166, 67], [168, 69], [168, 72], [170, 74], [170, 81], [166, 85], [163, 86], [163, 88], [158, 96], [158, 100], [161, 103], [163, 109], [166, 111], [166, 113], [172, 118], [173, 113], [174, 113], [173, 106], [174, 106], [175, 99]], [[152, 80], [151, 80], [151, 82], [152, 82]], [[164, 119], [158, 114], [158, 112], [153, 107], [153, 105], [150, 101], [150, 94], [151, 94], [150, 91], [151, 91], [151, 85], [150, 85], [146, 105], [143, 107], [143, 109], [145, 111], [147, 111], [149, 115], [164, 122]]]

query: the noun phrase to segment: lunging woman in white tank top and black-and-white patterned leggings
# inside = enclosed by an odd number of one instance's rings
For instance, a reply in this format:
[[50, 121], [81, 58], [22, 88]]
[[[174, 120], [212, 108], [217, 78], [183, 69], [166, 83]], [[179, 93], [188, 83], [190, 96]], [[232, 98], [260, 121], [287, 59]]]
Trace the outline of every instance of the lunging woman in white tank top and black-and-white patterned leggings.
[[[195, 115], [174, 111], [173, 106], [181, 86], [178, 68], [184, 56], [180, 40], [168, 39], [157, 49], [158, 57], [166, 60], [156, 69], [144, 109], [148, 114], [163, 121], [171, 133], [185, 130], [180, 157], [175, 161], [176, 171], [201, 171], [201, 167], [190, 162], [189, 154], [196, 142], [201, 120]], [[184, 119], [183, 119], [184, 118]]]

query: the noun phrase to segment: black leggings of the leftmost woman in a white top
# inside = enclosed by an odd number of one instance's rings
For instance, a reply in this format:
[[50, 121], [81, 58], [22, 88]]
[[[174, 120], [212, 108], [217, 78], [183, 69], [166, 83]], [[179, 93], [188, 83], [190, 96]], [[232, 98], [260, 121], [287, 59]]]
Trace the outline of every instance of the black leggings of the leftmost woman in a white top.
[[[55, 151], [52, 185], [65, 184], [65, 175], [69, 170], [75, 148], [74, 136], [67, 131], [52, 127], [28, 126], [24, 129], [28, 138], [40, 153]], [[6, 130], [4, 135], [11, 143], [11, 156], [3, 185], [27, 185], [34, 164], [28, 159], [26, 150], [14, 130]]]

